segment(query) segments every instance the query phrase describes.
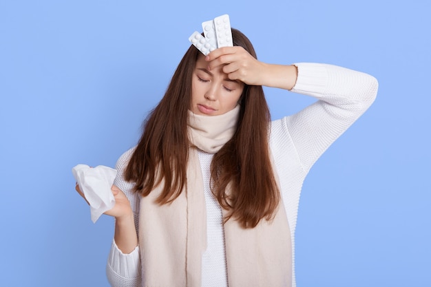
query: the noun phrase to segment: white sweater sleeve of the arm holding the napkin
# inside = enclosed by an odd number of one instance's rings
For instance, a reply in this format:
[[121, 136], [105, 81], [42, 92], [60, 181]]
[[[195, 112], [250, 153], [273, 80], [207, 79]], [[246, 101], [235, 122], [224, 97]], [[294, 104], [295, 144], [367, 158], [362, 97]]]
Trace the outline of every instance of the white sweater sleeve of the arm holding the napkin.
[[[133, 184], [124, 180], [124, 172], [134, 149], [129, 149], [116, 163], [117, 177], [114, 185], [121, 189], [129, 199], [134, 213], [136, 232], [138, 232], [139, 196], [133, 192]], [[140, 250], [136, 246], [129, 254], [118, 249], [115, 240], [112, 240], [111, 251], [106, 264], [106, 275], [109, 284], [114, 287], [138, 287], [141, 284]]]

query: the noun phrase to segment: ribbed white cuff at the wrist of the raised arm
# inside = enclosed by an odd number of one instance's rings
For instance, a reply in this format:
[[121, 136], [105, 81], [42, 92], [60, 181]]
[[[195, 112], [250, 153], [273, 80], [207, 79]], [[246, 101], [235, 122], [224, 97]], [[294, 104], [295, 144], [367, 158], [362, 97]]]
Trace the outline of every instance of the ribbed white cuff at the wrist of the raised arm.
[[319, 63], [295, 63], [298, 69], [296, 84], [292, 92], [300, 94], [324, 94], [328, 84], [328, 72]]

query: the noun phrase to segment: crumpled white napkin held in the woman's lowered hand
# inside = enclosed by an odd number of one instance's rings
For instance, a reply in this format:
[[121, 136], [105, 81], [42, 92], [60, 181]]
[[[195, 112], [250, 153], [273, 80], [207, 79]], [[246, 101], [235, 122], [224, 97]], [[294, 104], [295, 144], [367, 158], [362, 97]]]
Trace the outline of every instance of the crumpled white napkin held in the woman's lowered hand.
[[117, 171], [103, 165], [92, 168], [87, 164], [78, 164], [72, 168], [72, 173], [90, 204], [92, 222], [95, 223], [98, 217], [115, 205], [111, 187]]

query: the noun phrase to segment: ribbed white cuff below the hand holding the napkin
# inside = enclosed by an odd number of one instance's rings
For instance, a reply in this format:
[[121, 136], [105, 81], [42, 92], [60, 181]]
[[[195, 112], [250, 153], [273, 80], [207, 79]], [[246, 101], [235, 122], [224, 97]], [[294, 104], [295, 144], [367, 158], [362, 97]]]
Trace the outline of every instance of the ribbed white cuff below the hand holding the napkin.
[[110, 269], [117, 275], [125, 278], [140, 277], [140, 251], [136, 246], [134, 251], [125, 254], [118, 249], [115, 240], [112, 240], [111, 252], [107, 260]]

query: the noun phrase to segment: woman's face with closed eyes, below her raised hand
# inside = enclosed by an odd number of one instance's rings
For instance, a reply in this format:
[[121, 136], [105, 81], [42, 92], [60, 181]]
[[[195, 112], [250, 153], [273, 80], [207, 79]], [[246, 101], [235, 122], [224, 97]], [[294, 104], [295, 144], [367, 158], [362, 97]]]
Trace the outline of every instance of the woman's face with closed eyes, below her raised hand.
[[244, 89], [244, 83], [229, 80], [222, 66], [207, 70], [208, 62], [198, 56], [191, 81], [191, 111], [193, 114], [218, 116], [231, 111]]

